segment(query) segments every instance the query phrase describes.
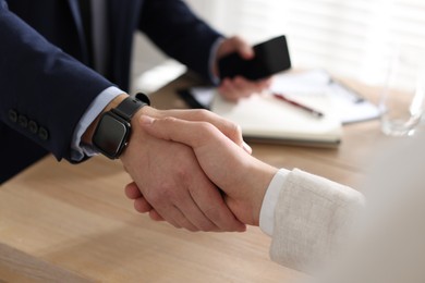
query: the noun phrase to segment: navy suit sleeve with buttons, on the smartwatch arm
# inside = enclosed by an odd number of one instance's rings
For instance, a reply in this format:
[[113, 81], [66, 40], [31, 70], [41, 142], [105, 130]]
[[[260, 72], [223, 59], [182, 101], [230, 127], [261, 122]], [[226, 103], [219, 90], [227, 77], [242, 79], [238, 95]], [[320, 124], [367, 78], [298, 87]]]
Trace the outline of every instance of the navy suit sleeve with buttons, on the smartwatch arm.
[[[0, 39], [1, 121], [58, 159], [70, 159], [75, 125], [95, 97], [112, 84], [48, 42], [3, 0]], [[45, 130], [42, 135], [37, 128]]]

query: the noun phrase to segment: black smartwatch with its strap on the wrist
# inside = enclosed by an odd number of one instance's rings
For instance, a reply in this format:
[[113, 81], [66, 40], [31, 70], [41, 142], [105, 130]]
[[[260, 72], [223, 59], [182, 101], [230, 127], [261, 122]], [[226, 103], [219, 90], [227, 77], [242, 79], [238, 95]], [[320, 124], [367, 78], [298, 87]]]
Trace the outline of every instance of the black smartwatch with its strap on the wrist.
[[92, 144], [96, 150], [110, 159], [117, 159], [129, 144], [131, 119], [138, 109], [149, 106], [144, 94], [125, 98], [117, 108], [105, 112], [96, 126]]

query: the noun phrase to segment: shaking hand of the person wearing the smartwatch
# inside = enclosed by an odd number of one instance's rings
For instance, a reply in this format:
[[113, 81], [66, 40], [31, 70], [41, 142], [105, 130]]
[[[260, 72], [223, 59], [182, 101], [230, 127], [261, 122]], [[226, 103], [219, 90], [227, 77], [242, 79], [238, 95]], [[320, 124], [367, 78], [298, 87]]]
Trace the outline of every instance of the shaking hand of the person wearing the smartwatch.
[[[192, 148], [146, 134], [137, 120], [142, 113], [208, 121], [226, 134], [229, 143], [234, 142], [236, 148], [245, 145], [238, 126], [209, 111], [159, 111], [144, 107], [132, 119], [133, 133], [121, 156], [124, 168], [135, 182], [132, 196], [144, 197], [144, 202], [135, 201], [135, 208], [142, 212], [146, 211], [146, 207], [155, 208], [155, 213], [150, 214], [153, 219], [163, 219], [175, 227], [190, 231], [244, 231], [245, 225], [227, 207], [219, 189], [201, 169]], [[178, 126], [175, 131], [182, 131], [187, 139], [199, 135]]]

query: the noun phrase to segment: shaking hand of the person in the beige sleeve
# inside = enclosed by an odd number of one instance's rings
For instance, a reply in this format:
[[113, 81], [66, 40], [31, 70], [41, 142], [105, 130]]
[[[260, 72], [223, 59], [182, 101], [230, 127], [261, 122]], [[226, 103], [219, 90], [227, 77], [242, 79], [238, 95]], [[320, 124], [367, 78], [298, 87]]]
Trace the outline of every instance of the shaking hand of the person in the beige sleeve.
[[[206, 175], [226, 193], [226, 202], [236, 218], [243, 223], [258, 225], [264, 194], [277, 169], [246, 153], [207, 122], [143, 116], [141, 125], [157, 138], [192, 147]], [[162, 220], [160, 212], [134, 184], [129, 184], [125, 193], [135, 200], [138, 211], [149, 211], [153, 219]]]

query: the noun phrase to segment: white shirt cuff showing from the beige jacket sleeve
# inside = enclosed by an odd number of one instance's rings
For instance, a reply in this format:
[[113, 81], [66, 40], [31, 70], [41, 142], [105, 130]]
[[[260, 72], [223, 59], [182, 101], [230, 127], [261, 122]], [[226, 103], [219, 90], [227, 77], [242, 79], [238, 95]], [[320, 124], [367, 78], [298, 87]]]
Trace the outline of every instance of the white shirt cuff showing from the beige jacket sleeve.
[[278, 202], [280, 190], [283, 187], [283, 183], [289, 172], [290, 171], [286, 169], [280, 169], [276, 173], [263, 199], [262, 210], [259, 212], [259, 227], [265, 234], [269, 236], [272, 236], [274, 234], [275, 209]]

